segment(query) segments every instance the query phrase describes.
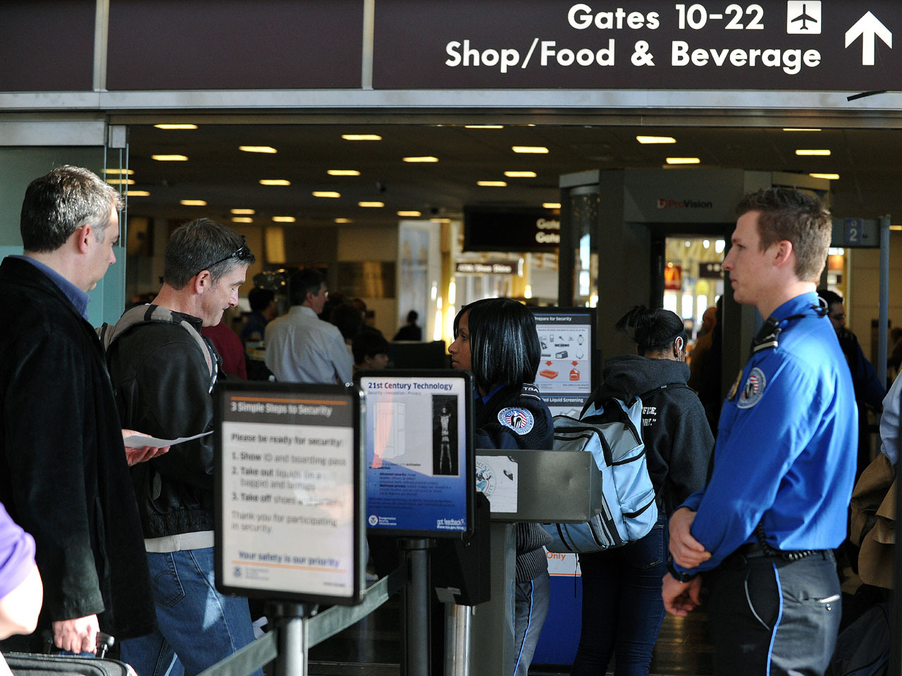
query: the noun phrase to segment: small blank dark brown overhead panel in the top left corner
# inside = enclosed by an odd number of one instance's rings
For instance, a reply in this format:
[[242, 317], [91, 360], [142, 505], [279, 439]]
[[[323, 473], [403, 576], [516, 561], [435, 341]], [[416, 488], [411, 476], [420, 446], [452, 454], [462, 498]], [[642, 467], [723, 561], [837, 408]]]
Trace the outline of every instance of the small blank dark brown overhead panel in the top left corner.
[[90, 91], [95, 0], [0, 3], [0, 91]]

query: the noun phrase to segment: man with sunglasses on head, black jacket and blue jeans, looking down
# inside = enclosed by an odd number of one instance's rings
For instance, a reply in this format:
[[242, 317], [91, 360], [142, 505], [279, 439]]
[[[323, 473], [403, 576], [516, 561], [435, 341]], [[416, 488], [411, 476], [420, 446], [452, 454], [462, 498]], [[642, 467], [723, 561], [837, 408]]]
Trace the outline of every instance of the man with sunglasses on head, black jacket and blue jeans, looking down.
[[[172, 233], [160, 293], [103, 335], [125, 426], [163, 439], [212, 430], [211, 392], [222, 374], [200, 329], [238, 304], [253, 260], [244, 237], [207, 218]], [[159, 625], [122, 643], [124, 662], [141, 676], [162, 676], [176, 661], [197, 674], [253, 641], [247, 600], [219, 594], [214, 583], [213, 472], [212, 434], [133, 469]]]

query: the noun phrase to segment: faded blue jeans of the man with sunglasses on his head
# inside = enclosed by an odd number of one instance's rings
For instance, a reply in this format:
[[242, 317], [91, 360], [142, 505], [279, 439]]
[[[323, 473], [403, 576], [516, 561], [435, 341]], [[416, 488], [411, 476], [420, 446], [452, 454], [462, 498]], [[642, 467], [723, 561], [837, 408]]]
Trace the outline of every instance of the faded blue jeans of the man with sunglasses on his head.
[[212, 547], [147, 558], [159, 628], [122, 642], [122, 661], [138, 676], [198, 674], [253, 643], [247, 599], [216, 591]]

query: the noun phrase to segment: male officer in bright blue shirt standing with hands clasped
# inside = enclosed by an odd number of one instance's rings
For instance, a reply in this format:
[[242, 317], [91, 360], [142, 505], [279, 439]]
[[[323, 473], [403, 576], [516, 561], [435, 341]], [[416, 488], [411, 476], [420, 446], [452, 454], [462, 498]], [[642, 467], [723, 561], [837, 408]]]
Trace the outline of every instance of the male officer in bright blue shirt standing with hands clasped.
[[745, 196], [723, 260], [733, 295], [767, 321], [723, 405], [707, 487], [670, 519], [667, 611], [705, 582], [718, 674], [821, 674], [840, 623], [832, 548], [846, 534], [857, 413], [815, 284], [830, 244], [813, 196]]

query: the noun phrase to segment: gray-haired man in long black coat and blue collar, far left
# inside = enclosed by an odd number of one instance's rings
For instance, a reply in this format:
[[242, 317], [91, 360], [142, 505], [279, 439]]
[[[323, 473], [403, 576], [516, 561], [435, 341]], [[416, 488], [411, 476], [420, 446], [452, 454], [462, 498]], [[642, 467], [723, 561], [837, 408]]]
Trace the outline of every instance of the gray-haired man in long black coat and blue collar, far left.
[[[0, 265], [0, 502], [31, 533], [44, 584], [38, 630], [4, 650], [95, 652], [154, 625], [126, 451], [87, 291], [115, 263], [118, 194], [87, 169], [60, 167], [25, 191], [23, 256]], [[131, 434], [126, 432], [126, 434]], [[145, 449], [146, 450], [146, 449]]]

